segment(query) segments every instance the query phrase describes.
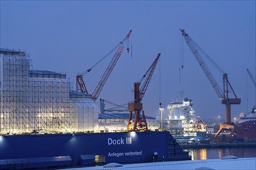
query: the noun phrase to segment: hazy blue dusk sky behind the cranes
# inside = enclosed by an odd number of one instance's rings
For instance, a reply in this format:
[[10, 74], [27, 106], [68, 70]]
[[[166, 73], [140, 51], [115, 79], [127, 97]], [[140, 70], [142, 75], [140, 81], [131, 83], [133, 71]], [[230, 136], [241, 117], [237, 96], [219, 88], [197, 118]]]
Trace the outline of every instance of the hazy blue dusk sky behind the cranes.
[[[159, 116], [159, 102], [166, 108], [183, 91], [200, 117], [224, 117], [224, 105], [179, 31], [185, 29], [228, 73], [241, 98], [240, 105], [231, 106], [231, 116], [251, 110], [256, 103], [255, 87], [246, 72], [256, 77], [255, 1], [1, 0], [0, 5], [0, 47], [25, 50], [33, 70], [67, 73], [73, 90], [76, 74], [92, 67], [133, 29], [132, 53], [123, 51], [99, 98], [116, 104], [132, 101], [133, 83], [161, 53], [144, 96], [145, 113]], [[111, 58], [85, 75], [89, 92]], [[205, 61], [223, 88], [223, 73]]]

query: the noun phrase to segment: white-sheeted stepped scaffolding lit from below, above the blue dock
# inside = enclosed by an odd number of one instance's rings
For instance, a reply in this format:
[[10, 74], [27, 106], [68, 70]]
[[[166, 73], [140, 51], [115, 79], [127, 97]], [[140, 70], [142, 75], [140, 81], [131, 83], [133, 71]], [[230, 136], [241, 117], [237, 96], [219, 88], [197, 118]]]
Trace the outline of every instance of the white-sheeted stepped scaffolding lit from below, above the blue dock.
[[30, 64], [26, 53], [0, 50], [0, 134], [96, 131], [92, 97], [74, 95], [65, 74]]

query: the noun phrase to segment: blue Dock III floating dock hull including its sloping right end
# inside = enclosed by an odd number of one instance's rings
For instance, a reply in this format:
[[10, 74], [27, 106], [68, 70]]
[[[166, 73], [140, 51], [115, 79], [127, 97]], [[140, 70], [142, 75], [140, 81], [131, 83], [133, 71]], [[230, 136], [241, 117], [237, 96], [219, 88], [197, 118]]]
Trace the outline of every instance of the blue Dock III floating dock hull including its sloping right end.
[[22, 134], [0, 138], [0, 168], [187, 160], [167, 131]]

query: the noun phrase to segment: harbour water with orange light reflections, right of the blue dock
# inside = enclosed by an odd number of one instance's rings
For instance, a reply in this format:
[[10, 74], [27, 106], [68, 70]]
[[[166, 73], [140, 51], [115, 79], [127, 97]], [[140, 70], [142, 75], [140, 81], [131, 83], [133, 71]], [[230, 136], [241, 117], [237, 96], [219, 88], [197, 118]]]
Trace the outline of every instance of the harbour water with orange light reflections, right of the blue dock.
[[227, 155], [234, 155], [238, 158], [256, 157], [255, 147], [241, 148], [191, 148], [186, 149], [192, 160], [216, 159]]

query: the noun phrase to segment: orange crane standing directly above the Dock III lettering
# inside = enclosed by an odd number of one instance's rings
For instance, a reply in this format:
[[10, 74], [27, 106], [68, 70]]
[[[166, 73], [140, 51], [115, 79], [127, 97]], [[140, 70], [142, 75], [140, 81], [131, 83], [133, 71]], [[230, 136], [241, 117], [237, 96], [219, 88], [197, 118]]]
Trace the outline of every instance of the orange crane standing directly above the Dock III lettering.
[[[134, 83], [134, 101], [133, 103], [128, 104], [128, 109], [130, 111], [130, 116], [127, 125], [127, 131], [147, 131], [147, 120], [143, 110], [143, 104], [141, 103], [144, 94], [146, 93], [150, 79], [154, 73], [154, 69], [157, 66], [157, 61], [161, 53], [158, 53], [157, 58], [154, 59], [154, 62], [151, 64], [150, 68], [141, 78], [140, 82]], [[144, 79], [145, 78], [145, 79]], [[144, 80], [142, 87], [140, 83]], [[133, 119], [134, 112], [134, 119]], [[133, 124], [133, 127], [132, 127]]]

